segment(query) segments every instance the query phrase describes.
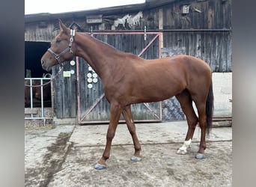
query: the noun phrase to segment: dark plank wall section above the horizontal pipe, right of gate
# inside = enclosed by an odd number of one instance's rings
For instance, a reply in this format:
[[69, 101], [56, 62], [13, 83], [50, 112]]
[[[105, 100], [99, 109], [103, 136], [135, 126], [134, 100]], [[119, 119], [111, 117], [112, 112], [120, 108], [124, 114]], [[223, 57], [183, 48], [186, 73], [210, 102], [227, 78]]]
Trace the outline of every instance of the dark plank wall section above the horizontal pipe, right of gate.
[[[182, 13], [183, 5], [189, 13]], [[231, 0], [175, 1], [162, 7], [163, 29], [230, 29], [231, 10]]]

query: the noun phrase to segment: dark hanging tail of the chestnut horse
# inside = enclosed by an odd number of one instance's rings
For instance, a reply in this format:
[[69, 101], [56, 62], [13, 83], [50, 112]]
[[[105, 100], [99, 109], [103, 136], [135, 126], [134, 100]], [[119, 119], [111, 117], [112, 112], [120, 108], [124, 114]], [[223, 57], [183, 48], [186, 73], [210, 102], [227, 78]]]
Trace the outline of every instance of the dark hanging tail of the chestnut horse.
[[213, 122], [213, 82], [210, 82], [210, 88], [207, 96], [206, 102], [206, 114], [207, 114], [207, 136], [210, 134], [210, 129]]

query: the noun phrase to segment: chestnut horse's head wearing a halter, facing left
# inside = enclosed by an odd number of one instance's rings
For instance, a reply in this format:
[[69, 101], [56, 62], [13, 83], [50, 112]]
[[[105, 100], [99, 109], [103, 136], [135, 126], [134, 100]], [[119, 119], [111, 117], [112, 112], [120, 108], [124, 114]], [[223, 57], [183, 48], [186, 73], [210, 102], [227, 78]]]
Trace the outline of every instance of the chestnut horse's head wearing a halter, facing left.
[[41, 65], [43, 70], [50, 71], [52, 67], [61, 64], [64, 61], [69, 61], [73, 58], [73, 49], [75, 46], [72, 46], [73, 37], [75, 35], [74, 30], [67, 28], [61, 20], [59, 20], [60, 32], [52, 40], [51, 47], [44, 53], [41, 58]]

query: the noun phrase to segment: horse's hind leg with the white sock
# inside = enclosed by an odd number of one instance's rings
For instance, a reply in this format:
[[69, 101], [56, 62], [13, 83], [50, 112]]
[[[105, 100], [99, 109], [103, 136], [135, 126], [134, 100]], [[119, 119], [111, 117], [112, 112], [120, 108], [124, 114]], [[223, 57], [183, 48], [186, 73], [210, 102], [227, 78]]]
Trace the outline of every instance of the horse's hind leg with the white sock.
[[179, 93], [176, 98], [180, 102], [180, 106], [186, 115], [186, 120], [188, 123], [188, 132], [186, 132], [186, 138], [183, 143], [183, 146], [177, 150], [177, 154], [186, 154], [186, 149], [192, 142], [192, 138], [195, 132], [195, 126], [198, 123], [198, 117], [195, 114], [194, 108], [192, 106], [192, 98], [189, 91], [184, 90], [182, 93]]

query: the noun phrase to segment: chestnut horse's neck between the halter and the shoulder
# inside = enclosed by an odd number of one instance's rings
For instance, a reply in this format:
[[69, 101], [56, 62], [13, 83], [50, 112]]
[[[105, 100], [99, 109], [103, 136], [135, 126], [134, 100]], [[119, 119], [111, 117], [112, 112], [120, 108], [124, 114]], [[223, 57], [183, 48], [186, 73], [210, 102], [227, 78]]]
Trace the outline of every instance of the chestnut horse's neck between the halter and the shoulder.
[[77, 33], [74, 40], [76, 42], [74, 55], [84, 58], [100, 78], [118, 65], [117, 58], [123, 53], [86, 34]]

